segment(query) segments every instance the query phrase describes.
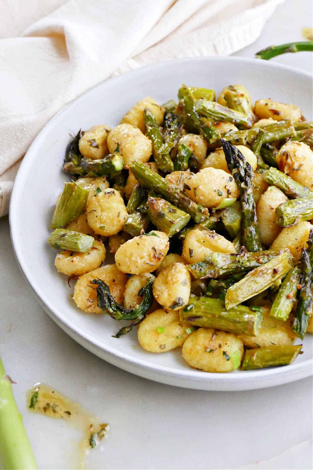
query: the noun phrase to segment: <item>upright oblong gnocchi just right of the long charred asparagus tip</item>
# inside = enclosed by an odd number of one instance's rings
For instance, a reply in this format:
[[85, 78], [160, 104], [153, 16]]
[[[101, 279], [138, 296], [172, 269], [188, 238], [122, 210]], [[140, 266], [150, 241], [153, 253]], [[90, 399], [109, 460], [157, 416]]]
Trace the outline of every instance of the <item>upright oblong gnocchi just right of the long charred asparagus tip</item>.
[[262, 194], [257, 204], [257, 217], [261, 242], [269, 246], [282, 231], [282, 227], [276, 224], [275, 209], [280, 204], [288, 201], [288, 197], [276, 188], [270, 186]]

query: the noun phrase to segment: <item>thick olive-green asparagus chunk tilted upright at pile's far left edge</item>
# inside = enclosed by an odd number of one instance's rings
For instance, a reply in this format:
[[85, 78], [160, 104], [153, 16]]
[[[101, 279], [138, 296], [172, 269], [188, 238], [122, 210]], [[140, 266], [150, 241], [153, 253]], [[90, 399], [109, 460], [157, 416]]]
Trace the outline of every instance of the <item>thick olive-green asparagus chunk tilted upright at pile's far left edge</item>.
[[60, 228], [76, 219], [87, 202], [89, 191], [76, 183], [64, 183], [64, 189], [52, 216], [50, 228]]

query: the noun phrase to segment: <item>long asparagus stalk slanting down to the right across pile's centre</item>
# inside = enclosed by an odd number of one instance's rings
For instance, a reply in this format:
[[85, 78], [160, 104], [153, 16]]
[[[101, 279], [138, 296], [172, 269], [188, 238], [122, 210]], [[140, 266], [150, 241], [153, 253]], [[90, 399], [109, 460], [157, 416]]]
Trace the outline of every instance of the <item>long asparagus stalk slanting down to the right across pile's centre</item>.
[[159, 193], [172, 204], [191, 215], [196, 223], [202, 222], [208, 215], [208, 210], [201, 204], [191, 201], [179, 188], [170, 184], [165, 178], [150, 170], [142, 163], [130, 163], [130, 170], [142, 186]]

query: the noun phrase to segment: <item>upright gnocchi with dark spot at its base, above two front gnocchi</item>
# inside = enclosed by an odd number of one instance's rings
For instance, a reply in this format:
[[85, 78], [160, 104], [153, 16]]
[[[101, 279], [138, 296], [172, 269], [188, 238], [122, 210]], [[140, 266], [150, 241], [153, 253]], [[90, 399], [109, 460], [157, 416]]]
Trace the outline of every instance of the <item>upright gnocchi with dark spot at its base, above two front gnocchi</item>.
[[153, 296], [162, 307], [179, 310], [190, 296], [191, 277], [183, 263], [174, 263], [162, 269], [153, 282]]

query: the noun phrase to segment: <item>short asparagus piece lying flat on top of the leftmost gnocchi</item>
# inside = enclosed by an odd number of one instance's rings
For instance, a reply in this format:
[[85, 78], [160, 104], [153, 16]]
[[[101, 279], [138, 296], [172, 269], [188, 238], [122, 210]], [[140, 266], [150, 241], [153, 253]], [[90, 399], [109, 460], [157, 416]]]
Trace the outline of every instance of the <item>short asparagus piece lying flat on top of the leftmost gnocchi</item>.
[[85, 253], [93, 247], [94, 238], [90, 235], [81, 234], [80, 232], [57, 228], [49, 236], [48, 242], [54, 248]]

